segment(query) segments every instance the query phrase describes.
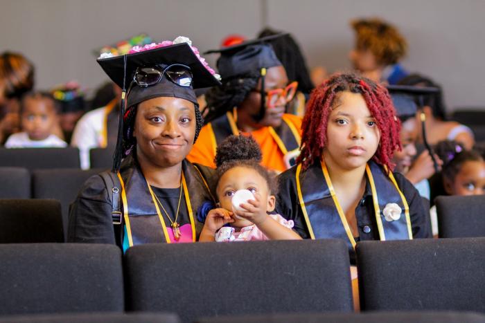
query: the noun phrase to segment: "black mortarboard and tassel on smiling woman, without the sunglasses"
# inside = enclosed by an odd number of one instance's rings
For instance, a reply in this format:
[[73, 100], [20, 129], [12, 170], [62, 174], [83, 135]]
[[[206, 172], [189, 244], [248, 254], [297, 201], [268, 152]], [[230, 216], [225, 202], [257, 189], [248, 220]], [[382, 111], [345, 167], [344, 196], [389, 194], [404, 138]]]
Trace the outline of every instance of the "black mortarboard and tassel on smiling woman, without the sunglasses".
[[[154, 45], [158, 46], [157, 44]], [[150, 45], [147, 45], [137, 53], [115, 57], [104, 58], [102, 55], [98, 59], [98, 63], [109, 78], [123, 89], [113, 172], [119, 169], [123, 154], [123, 116], [125, 115], [125, 93], [127, 90], [127, 107], [132, 107], [152, 98], [170, 96], [191, 101], [195, 104], [195, 109], [198, 109], [197, 98], [193, 89], [220, 84], [215, 75], [209, 71], [210, 67], [206, 65], [205, 61], [204, 63], [202, 62], [202, 58], [197, 57], [191, 46], [186, 42], [155, 48], [150, 48]], [[160, 82], [147, 87], [141, 87], [132, 82], [138, 67], [166, 67], [170, 64], [184, 64], [191, 68], [193, 75], [192, 85], [179, 86], [170, 82], [165, 75]]]

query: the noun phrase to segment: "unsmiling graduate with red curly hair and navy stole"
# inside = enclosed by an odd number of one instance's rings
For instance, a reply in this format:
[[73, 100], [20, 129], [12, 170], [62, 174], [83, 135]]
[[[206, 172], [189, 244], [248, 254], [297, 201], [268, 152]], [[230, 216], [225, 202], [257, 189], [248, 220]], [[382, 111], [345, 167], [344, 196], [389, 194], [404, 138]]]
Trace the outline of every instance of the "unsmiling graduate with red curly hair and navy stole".
[[[421, 196], [391, 158], [400, 122], [387, 89], [337, 74], [312, 92], [297, 166], [279, 176], [276, 210], [306, 239], [430, 237]], [[351, 259], [353, 261], [353, 259]]]

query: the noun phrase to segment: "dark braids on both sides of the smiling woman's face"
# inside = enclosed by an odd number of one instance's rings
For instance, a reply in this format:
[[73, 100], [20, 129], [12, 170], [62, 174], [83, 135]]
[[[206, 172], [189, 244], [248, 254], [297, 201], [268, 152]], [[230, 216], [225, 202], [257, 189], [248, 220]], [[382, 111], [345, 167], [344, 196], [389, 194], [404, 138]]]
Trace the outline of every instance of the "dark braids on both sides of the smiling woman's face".
[[[138, 111], [138, 104], [129, 107], [123, 116], [123, 158], [129, 154], [136, 156], [136, 138], [133, 136], [134, 120], [136, 112]], [[200, 113], [199, 105], [195, 104], [195, 136], [194, 142], [199, 137], [200, 129], [204, 125], [204, 118]]]

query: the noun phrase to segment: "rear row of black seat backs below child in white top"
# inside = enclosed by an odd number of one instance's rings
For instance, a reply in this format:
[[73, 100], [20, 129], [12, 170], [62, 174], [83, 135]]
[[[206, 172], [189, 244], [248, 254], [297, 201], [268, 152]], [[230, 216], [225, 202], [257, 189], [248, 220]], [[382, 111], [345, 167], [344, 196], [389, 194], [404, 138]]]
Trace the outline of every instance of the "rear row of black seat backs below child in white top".
[[[108, 169], [113, 164], [111, 149], [94, 148], [89, 151], [91, 168]], [[33, 169], [80, 168], [79, 149], [66, 148], [0, 148], [0, 167]]]

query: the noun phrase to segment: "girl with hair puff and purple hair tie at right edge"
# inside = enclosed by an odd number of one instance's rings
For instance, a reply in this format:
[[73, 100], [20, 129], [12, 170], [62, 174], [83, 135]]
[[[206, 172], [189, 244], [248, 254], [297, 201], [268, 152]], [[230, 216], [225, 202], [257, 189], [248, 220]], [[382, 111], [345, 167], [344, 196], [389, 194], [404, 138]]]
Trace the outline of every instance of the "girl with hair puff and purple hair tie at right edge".
[[[466, 150], [459, 142], [443, 140], [434, 147], [443, 160], [441, 180], [448, 195], [485, 194], [485, 162], [475, 150]], [[438, 236], [436, 206], [430, 210], [433, 236]]]

